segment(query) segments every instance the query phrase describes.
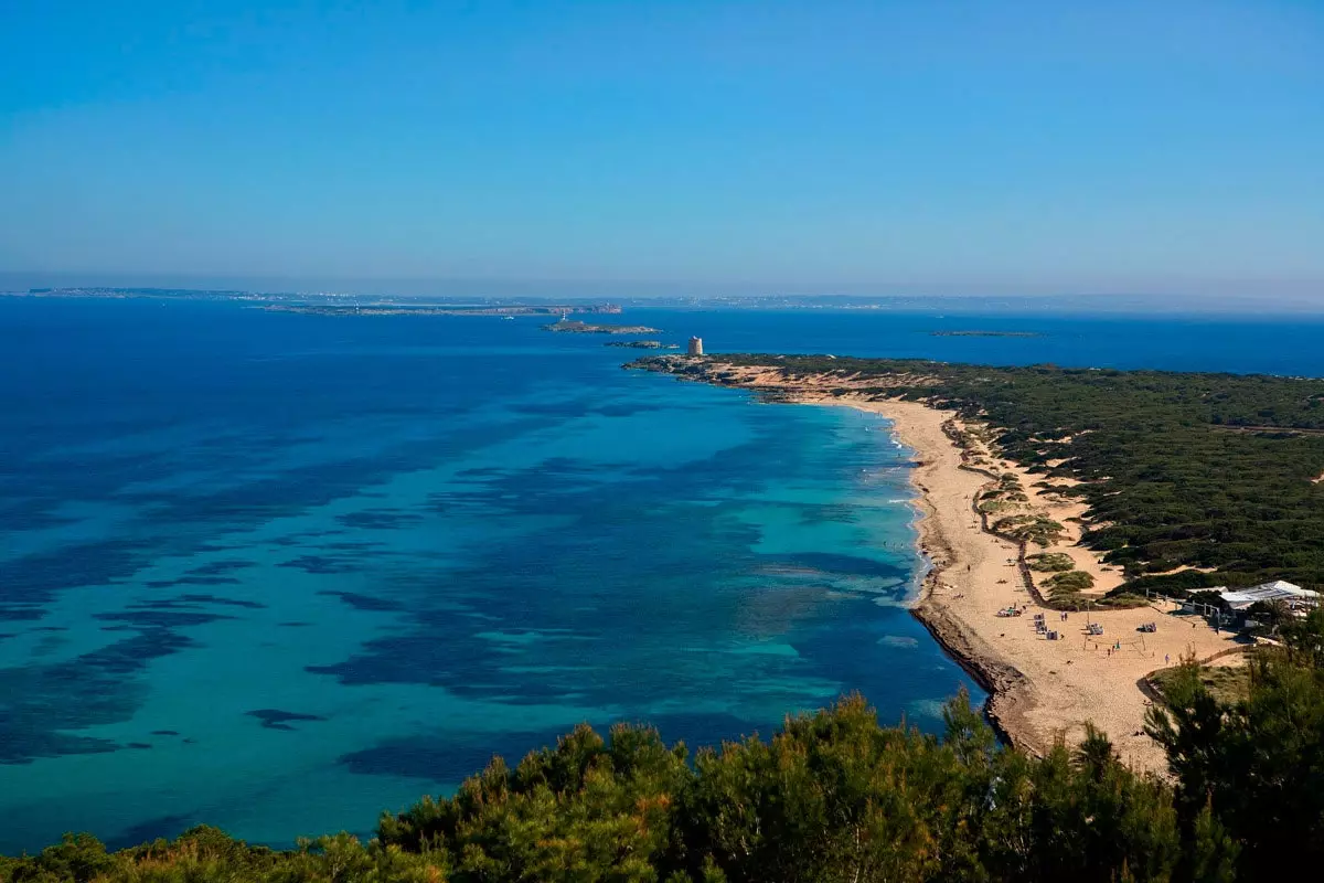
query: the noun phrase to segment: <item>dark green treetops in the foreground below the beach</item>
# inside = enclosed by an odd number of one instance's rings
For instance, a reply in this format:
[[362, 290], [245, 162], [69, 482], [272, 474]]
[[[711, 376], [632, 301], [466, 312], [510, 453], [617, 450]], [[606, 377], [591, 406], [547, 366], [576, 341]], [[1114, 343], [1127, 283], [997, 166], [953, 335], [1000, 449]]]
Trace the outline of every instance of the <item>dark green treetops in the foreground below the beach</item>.
[[1091, 733], [1035, 759], [964, 698], [941, 739], [879, 727], [858, 696], [690, 756], [646, 727], [588, 727], [451, 798], [275, 851], [196, 827], [107, 853], [89, 835], [0, 859], [0, 882], [428, 880], [863, 883], [1283, 880], [1324, 867], [1324, 613], [1259, 651], [1219, 700], [1194, 662], [1149, 728], [1173, 780]]

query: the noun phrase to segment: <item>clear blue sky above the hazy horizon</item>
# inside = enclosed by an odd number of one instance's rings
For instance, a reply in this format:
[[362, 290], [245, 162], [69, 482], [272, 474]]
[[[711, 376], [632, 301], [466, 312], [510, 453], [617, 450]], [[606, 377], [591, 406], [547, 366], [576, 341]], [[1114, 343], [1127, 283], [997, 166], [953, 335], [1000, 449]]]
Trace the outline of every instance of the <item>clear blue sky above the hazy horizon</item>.
[[5, 3], [0, 271], [1324, 297], [1324, 3]]

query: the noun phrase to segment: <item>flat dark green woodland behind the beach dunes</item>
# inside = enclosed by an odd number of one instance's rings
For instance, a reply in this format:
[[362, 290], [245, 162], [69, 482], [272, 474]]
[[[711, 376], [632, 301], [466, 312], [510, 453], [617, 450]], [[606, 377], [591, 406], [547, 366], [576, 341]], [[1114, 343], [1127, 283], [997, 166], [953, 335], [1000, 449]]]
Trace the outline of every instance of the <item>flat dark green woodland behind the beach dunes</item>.
[[1324, 380], [829, 356], [636, 364], [716, 383], [727, 365], [834, 373], [854, 377], [842, 393], [984, 420], [1010, 459], [1083, 482], [1068, 492], [1090, 506], [1084, 543], [1125, 568], [1121, 590], [1324, 589]]

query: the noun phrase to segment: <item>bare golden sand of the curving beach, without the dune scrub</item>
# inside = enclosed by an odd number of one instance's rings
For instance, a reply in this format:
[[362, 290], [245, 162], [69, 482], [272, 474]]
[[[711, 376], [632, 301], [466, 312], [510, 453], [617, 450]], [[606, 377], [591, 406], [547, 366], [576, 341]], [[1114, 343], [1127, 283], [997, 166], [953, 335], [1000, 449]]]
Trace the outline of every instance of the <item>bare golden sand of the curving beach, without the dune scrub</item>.
[[[812, 377], [788, 381], [773, 369], [736, 369], [726, 372], [723, 383], [776, 392], [790, 402], [845, 405], [890, 420], [898, 440], [915, 451], [920, 544], [933, 564], [915, 616], [989, 690], [988, 714], [994, 725], [1013, 744], [1042, 753], [1058, 739], [1078, 741], [1091, 721], [1112, 739], [1124, 761], [1165, 772], [1162, 751], [1144, 733], [1151, 700], [1141, 682], [1157, 669], [1177, 665], [1182, 654], [1193, 651], [1206, 661], [1235, 651], [1239, 645], [1233, 635], [1217, 634], [1200, 617], [1181, 616], [1176, 605], [1165, 602], [1067, 613], [1064, 620], [1061, 612], [1042, 606], [1026, 586], [1017, 544], [985, 531], [976, 514], [976, 495], [993, 481], [984, 470], [1022, 475], [1029, 506], [1067, 527], [1061, 543], [1037, 551], [1070, 555], [1079, 569], [1095, 575], [1091, 596], [1119, 585], [1121, 573], [1076, 544], [1082, 523], [1070, 519], [1084, 514], [1082, 503], [1034, 488], [1034, 479], [1000, 459], [997, 451], [982, 449], [972, 457], [967, 449], [963, 454], [948, 430], [968, 428], [952, 412], [914, 401], [839, 395], [839, 377], [830, 384]], [[833, 388], [838, 393], [830, 392]], [[970, 461], [977, 463], [973, 469]], [[1023, 608], [1023, 614], [997, 616], [1010, 606]], [[1037, 633], [1035, 613], [1043, 614], [1061, 639]], [[1087, 622], [1102, 625], [1103, 635], [1090, 635]], [[1157, 624], [1157, 631], [1140, 631], [1148, 622]]]

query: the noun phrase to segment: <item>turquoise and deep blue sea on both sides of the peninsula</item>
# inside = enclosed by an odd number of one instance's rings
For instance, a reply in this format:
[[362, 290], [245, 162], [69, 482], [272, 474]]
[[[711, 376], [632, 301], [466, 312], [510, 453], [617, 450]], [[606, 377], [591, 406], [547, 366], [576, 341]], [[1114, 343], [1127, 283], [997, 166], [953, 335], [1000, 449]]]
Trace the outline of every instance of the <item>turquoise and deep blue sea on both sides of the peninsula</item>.
[[[632, 310], [711, 351], [1324, 375], [1324, 320]], [[0, 851], [368, 833], [576, 723], [981, 694], [908, 451], [540, 319], [0, 298]], [[935, 330], [1038, 331], [940, 338]]]

